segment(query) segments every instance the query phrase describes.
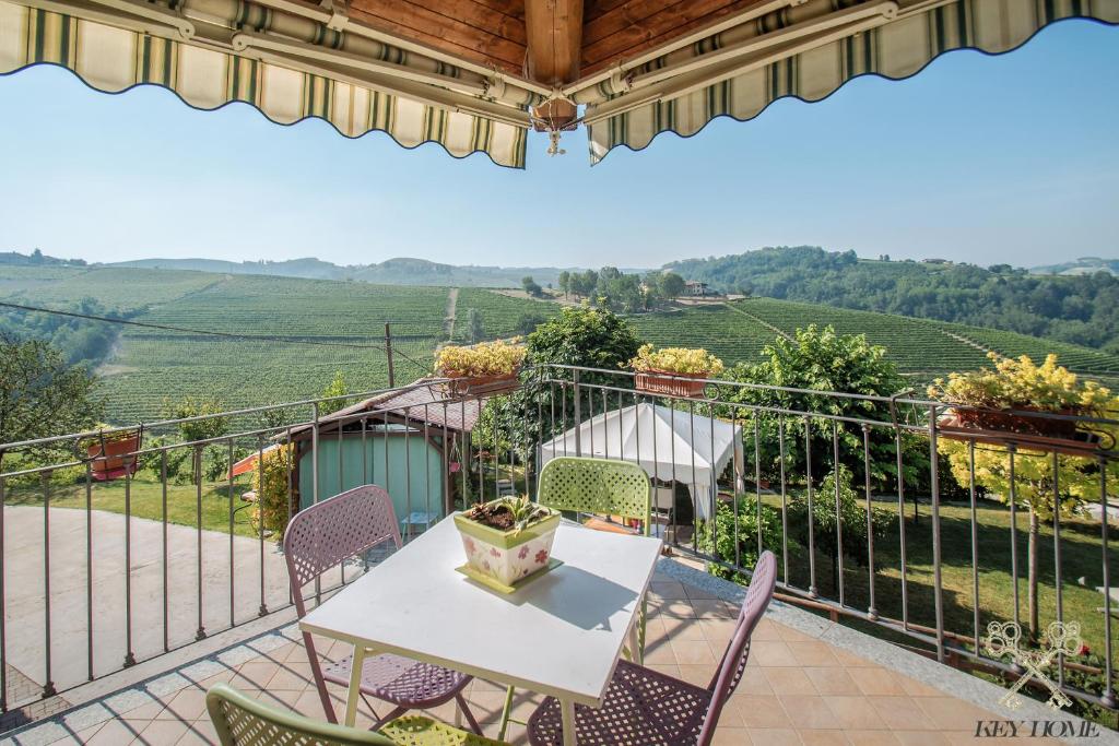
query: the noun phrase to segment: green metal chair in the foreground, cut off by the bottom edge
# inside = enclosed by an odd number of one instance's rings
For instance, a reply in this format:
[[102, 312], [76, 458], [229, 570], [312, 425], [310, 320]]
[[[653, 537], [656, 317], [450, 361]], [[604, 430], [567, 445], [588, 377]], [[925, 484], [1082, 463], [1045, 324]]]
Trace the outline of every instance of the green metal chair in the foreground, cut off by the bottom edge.
[[206, 692], [222, 746], [508, 746], [425, 717], [397, 718], [379, 733], [312, 720], [246, 697], [227, 683]]

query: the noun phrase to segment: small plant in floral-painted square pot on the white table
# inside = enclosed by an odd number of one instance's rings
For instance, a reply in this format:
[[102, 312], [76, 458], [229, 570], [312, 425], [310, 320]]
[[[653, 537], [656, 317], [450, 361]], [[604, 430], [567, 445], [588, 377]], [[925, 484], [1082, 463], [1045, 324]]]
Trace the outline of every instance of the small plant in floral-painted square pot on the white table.
[[454, 516], [467, 555], [463, 572], [511, 588], [549, 568], [560, 511], [524, 498], [479, 502]]

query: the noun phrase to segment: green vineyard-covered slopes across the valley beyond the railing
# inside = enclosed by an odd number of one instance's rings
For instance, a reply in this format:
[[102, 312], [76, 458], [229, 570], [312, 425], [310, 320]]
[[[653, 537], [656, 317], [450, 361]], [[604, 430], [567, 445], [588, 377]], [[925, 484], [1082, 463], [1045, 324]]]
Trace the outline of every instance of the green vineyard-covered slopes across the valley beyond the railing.
[[[110, 417], [119, 423], [157, 418], [164, 400], [184, 396], [214, 397], [231, 408], [310, 398], [336, 371], [351, 390], [384, 386], [386, 321], [399, 353], [397, 383], [410, 381], [430, 371], [433, 350], [446, 341], [451, 293], [436, 286], [152, 268], [0, 267], [3, 300], [72, 309], [91, 298], [135, 321], [236, 336], [121, 328], [98, 368]], [[471, 309], [481, 314], [485, 337], [497, 338], [524, 333], [560, 308], [477, 287], [454, 295], [457, 342], [468, 339]], [[886, 346], [915, 381], [982, 366], [986, 351], [995, 350], [1035, 358], [1057, 352], [1072, 369], [1119, 384], [1119, 358], [1089, 348], [811, 303], [756, 298], [631, 321], [650, 342], [706, 347], [731, 365], [756, 362], [778, 334], [815, 323], [865, 333]]]

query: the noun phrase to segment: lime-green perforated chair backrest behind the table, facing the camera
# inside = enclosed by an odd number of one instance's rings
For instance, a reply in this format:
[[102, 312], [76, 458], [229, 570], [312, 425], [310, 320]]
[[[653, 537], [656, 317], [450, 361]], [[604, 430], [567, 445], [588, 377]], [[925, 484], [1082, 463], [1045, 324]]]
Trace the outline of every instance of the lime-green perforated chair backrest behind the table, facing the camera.
[[649, 532], [652, 485], [629, 461], [557, 456], [540, 470], [536, 500], [555, 510], [637, 518]]

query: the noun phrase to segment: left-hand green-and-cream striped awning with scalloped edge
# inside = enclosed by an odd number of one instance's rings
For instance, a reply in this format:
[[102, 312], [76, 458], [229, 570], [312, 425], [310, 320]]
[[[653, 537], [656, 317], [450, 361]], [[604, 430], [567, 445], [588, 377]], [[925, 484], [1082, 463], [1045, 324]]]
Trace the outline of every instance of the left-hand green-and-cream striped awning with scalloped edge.
[[320, 117], [349, 138], [377, 130], [524, 168], [538, 92], [394, 46], [326, 6], [0, 0], [0, 74], [59, 65], [109, 93], [159, 85], [198, 108], [239, 101], [282, 124]]

